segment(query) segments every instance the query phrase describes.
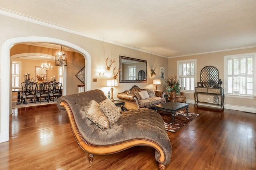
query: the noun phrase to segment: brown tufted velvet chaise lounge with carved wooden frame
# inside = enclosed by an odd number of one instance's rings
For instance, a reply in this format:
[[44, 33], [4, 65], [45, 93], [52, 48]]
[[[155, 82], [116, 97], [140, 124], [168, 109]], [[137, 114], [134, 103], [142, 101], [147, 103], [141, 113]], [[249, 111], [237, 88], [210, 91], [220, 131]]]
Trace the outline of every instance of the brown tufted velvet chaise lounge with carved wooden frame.
[[122, 117], [108, 129], [100, 129], [90, 119], [82, 119], [84, 110], [91, 100], [102, 102], [106, 96], [101, 90], [90, 90], [78, 94], [62, 96], [57, 107], [65, 110], [78, 145], [88, 152], [92, 163], [94, 154], [113, 154], [134, 146], [150, 146], [156, 149], [155, 159], [159, 169], [169, 164], [172, 146], [162, 117], [152, 109], [123, 111]]

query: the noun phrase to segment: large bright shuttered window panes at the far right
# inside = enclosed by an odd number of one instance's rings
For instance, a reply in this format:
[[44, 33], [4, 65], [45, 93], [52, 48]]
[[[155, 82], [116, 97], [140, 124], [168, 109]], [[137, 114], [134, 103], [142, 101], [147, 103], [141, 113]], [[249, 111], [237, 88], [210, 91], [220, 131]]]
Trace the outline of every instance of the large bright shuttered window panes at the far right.
[[256, 53], [225, 56], [226, 94], [253, 96], [255, 91], [254, 56]]

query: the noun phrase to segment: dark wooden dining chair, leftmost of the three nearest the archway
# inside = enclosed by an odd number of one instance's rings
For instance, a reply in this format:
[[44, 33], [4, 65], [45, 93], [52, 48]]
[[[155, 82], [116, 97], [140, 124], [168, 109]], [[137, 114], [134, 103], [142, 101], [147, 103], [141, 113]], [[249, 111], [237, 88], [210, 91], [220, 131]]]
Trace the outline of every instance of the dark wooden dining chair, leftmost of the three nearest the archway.
[[[34, 82], [27, 82], [24, 85], [25, 87], [25, 104], [27, 105], [27, 99], [31, 100], [31, 102], [34, 102], [36, 104], [36, 92], [37, 92], [37, 84]], [[34, 101], [33, 101], [34, 100]]]

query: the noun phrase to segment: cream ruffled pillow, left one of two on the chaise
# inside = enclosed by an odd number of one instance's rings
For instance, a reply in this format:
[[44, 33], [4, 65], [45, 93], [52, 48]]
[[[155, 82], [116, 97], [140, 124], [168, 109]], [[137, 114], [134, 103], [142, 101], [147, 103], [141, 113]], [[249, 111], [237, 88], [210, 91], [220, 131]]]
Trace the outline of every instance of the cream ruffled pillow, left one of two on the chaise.
[[95, 123], [100, 129], [108, 129], [109, 128], [109, 122], [100, 109], [99, 104], [92, 100], [90, 101], [88, 107], [86, 108], [84, 117], [90, 119], [93, 123]]

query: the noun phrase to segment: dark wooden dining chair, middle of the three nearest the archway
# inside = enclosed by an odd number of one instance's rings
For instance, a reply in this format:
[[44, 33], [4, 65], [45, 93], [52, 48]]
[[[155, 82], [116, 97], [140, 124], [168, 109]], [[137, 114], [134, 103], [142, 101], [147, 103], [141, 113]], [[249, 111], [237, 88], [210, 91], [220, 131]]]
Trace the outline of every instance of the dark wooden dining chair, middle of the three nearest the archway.
[[51, 84], [49, 82], [42, 82], [39, 84], [39, 90], [36, 92], [36, 100], [37, 102], [40, 101], [42, 102], [42, 98], [46, 101], [49, 102], [49, 93]]

